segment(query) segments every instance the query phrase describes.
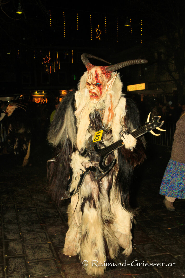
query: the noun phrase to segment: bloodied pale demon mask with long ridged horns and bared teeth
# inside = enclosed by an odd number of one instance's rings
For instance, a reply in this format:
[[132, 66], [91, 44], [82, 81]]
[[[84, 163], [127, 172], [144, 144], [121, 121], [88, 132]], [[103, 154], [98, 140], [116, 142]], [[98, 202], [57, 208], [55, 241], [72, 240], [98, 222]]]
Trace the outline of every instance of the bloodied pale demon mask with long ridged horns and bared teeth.
[[125, 66], [148, 63], [148, 61], [145, 59], [137, 59], [103, 67], [93, 66], [89, 62], [88, 58], [94, 58], [108, 64], [110, 63], [91, 54], [83, 53], [81, 55], [82, 62], [86, 66], [88, 71], [85, 86], [89, 91], [91, 103], [98, 103], [98, 101], [100, 101], [101, 98], [107, 93], [107, 91], [111, 89], [117, 75], [117, 73], [115, 73], [112, 76], [111, 73]]

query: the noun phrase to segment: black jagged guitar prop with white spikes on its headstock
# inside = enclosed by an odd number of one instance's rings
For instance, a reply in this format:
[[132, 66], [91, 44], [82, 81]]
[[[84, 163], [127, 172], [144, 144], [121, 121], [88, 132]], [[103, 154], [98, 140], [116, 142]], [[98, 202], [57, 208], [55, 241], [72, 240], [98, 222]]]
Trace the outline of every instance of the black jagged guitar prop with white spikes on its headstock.
[[[138, 128], [138, 130], [134, 130], [133, 132], [130, 133], [133, 137], [138, 138], [138, 137], [144, 135], [147, 132], [151, 132], [153, 135], [159, 136], [160, 134], [155, 134], [153, 132], [154, 128], [156, 128], [160, 131], [165, 131], [165, 130], [161, 129], [161, 126], [163, 125], [164, 121], [159, 123], [159, 119], [161, 118], [161, 116], [154, 116], [154, 118], [152, 118], [151, 121], [149, 121], [149, 117], [150, 117], [150, 113], [148, 115], [147, 122], [145, 123], [145, 125]], [[94, 172], [95, 173], [94, 180], [100, 180], [115, 165], [116, 158], [114, 158], [108, 165], [105, 165], [105, 160], [111, 152], [113, 152], [113, 151], [117, 150], [118, 148], [121, 148], [121, 147], [124, 146], [123, 140], [120, 138], [120, 140], [116, 141], [115, 143], [112, 143], [108, 147], [100, 149], [99, 148], [99, 143], [100, 143], [100, 140], [101, 140], [101, 138], [104, 134], [105, 133], [103, 133], [103, 130], [100, 130], [100, 131], [97, 131], [95, 133], [94, 137], [90, 136], [87, 140], [85, 151], [82, 154], [80, 154], [80, 155], [85, 157], [87, 155], [88, 151], [92, 150], [94, 148], [95, 152], [100, 157], [99, 167], [100, 167], [101, 170], [99, 170], [95, 166], [87, 167], [85, 169], [85, 171], [82, 171], [82, 174], [80, 175], [80, 180], [78, 182], [77, 188], [73, 189], [70, 192], [69, 191], [70, 190], [70, 184], [72, 182], [72, 175], [73, 175], [72, 168], [70, 168], [70, 171], [69, 171], [70, 172], [70, 178], [69, 178], [68, 183], [67, 183], [66, 191], [64, 192], [65, 195], [61, 197], [61, 200], [70, 198], [70, 197], [74, 196], [79, 191], [80, 187], [82, 186], [85, 175], [87, 175], [88, 172]], [[123, 131], [121, 131], [120, 137], [122, 135], [123, 135]], [[55, 159], [51, 159], [48, 162], [51, 162], [51, 161], [55, 161]]]

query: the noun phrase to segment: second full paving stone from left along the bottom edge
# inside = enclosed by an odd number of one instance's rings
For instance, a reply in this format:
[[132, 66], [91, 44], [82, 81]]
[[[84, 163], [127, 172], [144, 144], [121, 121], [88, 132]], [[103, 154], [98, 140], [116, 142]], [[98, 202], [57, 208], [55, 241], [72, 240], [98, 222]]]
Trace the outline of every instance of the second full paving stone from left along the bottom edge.
[[55, 260], [43, 260], [40, 262], [30, 262], [29, 273], [31, 277], [43, 275], [54, 275], [61, 272], [59, 264]]

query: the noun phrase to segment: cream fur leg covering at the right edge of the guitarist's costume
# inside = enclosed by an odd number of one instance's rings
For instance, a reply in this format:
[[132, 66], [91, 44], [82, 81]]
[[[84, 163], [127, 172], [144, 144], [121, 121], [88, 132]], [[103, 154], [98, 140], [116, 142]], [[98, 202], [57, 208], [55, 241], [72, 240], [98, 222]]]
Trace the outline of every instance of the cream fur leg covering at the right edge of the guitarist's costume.
[[111, 193], [111, 211], [115, 215], [115, 221], [113, 224], [113, 230], [118, 239], [119, 245], [124, 248], [123, 254], [129, 256], [132, 252], [132, 220], [133, 214], [123, 209], [121, 203], [114, 198]]

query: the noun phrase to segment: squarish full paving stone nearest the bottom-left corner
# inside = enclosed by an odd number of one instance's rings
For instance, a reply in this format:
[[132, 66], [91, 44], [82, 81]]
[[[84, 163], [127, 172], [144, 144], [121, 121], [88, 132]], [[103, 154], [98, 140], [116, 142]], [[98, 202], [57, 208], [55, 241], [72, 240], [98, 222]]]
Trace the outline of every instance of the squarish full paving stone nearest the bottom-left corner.
[[6, 274], [17, 275], [17, 278], [22, 277], [21, 274], [27, 273], [24, 257], [12, 257], [6, 259]]

